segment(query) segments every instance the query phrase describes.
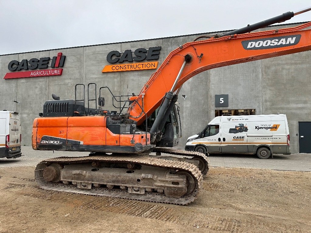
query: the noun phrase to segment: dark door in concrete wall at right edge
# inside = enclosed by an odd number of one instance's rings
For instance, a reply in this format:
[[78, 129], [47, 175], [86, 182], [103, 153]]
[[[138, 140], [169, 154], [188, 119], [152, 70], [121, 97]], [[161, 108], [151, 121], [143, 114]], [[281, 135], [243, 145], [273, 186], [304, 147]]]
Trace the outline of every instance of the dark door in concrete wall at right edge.
[[299, 153], [311, 153], [311, 122], [299, 123]]

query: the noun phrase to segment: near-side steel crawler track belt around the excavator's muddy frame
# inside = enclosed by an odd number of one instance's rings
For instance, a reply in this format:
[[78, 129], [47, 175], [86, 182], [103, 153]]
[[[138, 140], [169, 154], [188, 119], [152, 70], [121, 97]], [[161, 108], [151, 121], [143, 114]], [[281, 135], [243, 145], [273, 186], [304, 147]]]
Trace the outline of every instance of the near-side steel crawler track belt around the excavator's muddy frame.
[[[138, 166], [147, 166], [149, 170], [151, 169], [166, 169], [171, 173], [179, 173], [179, 178], [184, 177], [183, 175], [190, 176], [191, 180], [193, 180], [193, 186], [191, 193], [188, 193], [181, 196], [181, 197], [173, 197], [173, 196], [166, 196], [165, 193], [159, 193], [156, 190], [151, 192], [143, 192], [143, 194], [135, 194], [133, 193], [132, 188], [128, 187], [127, 190], [121, 190], [122, 186], [117, 186], [117, 188], [108, 187], [108, 185], [102, 185], [105, 187], [94, 187], [94, 184], [90, 184], [89, 189], [81, 189], [78, 188], [76, 183], [72, 184], [72, 182], [68, 181], [58, 181], [58, 182], [49, 182], [44, 178], [44, 168], [48, 167], [49, 165], [57, 166], [75, 166], [75, 164], [85, 164], [92, 163], [100, 164], [100, 163], [128, 163], [138, 165]], [[56, 167], [57, 167], [56, 166]], [[99, 167], [99, 166], [98, 166]], [[100, 168], [95, 168], [95, 170], [100, 170]], [[111, 169], [111, 168], [109, 168]], [[92, 169], [92, 171], [94, 168]], [[128, 169], [129, 170], [129, 169]], [[72, 173], [76, 172], [72, 170]], [[83, 174], [83, 171], [81, 172]], [[77, 173], [79, 173], [77, 172]], [[134, 172], [134, 171], [133, 171]], [[181, 175], [181, 176], [180, 176]], [[143, 178], [151, 178], [152, 175], [142, 175]], [[143, 179], [142, 178], [142, 179]], [[188, 179], [188, 178], [187, 178]], [[124, 155], [124, 154], [98, 154], [92, 153], [89, 156], [85, 157], [58, 157], [58, 158], [51, 158], [40, 162], [37, 167], [35, 168], [35, 181], [39, 185], [40, 188], [45, 190], [56, 190], [56, 191], [65, 191], [71, 193], [78, 193], [78, 194], [86, 194], [86, 195], [98, 195], [98, 196], [109, 196], [109, 197], [117, 197], [123, 199], [130, 199], [130, 200], [140, 200], [140, 201], [149, 201], [149, 202], [156, 202], [156, 203], [169, 203], [169, 204], [176, 204], [176, 205], [187, 205], [192, 203], [202, 188], [203, 183], [203, 176], [201, 171], [198, 169], [197, 166], [188, 163], [188, 162], [180, 162], [180, 161], [173, 161], [173, 160], [165, 160], [160, 158], [151, 158], [148, 155]], [[138, 181], [138, 180], [137, 180]], [[103, 183], [105, 183], [103, 181]], [[174, 183], [174, 182], [172, 182]], [[188, 184], [188, 183], [187, 183]], [[134, 184], [132, 186], [135, 186]], [[188, 187], [188, 186], [187, 186]], [[145, 189], [143, 189], [145, 190]], [[147, 190], [147, 189], [146, 189]], [[131, 192], [130, 192], [131, 191]]]

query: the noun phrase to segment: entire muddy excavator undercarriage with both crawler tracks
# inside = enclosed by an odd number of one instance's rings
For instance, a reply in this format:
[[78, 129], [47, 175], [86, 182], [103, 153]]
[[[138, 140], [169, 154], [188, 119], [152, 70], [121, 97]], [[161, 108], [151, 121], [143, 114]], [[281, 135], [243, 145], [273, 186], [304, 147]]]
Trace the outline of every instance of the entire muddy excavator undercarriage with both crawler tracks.
[[[203, 172], [207, 173], [205, 155], [184, 152], [204, 161]], [[203, 175], [198, 164], [183, 159], [118, 153], [52, 158], [37, 165], [35, 181], [46, 190], [187, 205], [202, 188]]]

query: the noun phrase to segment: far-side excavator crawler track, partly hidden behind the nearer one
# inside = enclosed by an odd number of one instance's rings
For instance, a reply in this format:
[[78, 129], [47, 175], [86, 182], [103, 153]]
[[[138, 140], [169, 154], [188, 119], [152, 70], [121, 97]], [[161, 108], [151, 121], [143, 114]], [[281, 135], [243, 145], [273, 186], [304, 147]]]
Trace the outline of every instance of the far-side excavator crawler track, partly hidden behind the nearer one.
[[161, 153], [165, 154], [174, 154], [174, 155], [181, 155], [181, 156], [191, 156], [193, 159], [199, 160], [199, 169], [203, 176], [207, 175], [208, 169], [209, 169], [209, 163], [207, 156], [203, 153], [196, 152], [196, 151], [185, 151], [185, 150], [179, 150], [179, 149], [173, 149], [173, 148], [165, 148], [165, 147], [155, 147], [152, 148], [153, 152], [156, 152], [158, 155], [161, 155]]

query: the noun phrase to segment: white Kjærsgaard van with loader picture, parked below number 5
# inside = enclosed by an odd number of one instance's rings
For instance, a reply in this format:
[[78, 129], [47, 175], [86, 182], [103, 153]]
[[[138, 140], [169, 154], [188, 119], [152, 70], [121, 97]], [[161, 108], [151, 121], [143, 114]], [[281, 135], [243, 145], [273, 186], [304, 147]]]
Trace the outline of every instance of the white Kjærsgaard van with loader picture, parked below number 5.
[[285, 114], [215, 117], [188, 138], [185, 150], [202, 153], [253, 153], [259, 158], [290, 154]]

